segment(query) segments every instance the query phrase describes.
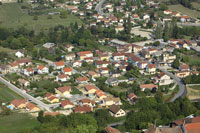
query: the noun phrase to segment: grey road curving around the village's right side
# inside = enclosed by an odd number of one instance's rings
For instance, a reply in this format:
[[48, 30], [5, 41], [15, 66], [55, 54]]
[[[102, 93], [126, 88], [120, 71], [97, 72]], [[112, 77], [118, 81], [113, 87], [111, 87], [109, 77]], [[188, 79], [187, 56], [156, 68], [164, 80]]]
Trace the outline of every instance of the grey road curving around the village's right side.
[[187, 94], [186, 86], [182, 83], [180, 78], [176, 77], [174, 74], [166, 71], [165, 69], [162, 69], [162, 68], [159, 68], [159, 67], [158, 67], [158, 69], [161, 70], [162, 72], [164, 72], [165, 74], [167, 74], [168, 76], [170, 76], [172, 79], [174, 79], [174, 81], [179, 86], [178, 93], [170, 100], [170, 102], [174, 102], [177, 98], [184, 97]]

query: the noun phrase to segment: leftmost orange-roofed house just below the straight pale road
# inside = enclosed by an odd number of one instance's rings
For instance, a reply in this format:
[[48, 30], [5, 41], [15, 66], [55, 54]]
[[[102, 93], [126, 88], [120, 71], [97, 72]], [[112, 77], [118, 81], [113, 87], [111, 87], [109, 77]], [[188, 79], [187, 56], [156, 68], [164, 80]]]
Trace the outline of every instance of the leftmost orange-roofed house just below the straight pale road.
[[27, 104], [26, 99], [14, 99], [11, 101], [10, 106], [12, 106], [12, 108], [21, 109], [21, 108], [25, 108], [26, 104]]

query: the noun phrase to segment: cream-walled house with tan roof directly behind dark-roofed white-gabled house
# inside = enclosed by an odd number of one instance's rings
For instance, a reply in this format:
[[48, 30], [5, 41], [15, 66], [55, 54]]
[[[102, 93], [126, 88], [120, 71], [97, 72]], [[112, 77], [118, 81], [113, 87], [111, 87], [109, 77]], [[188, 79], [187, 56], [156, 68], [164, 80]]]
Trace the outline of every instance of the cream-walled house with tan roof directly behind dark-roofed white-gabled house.
[[113, 104], [115, 105], [122, 105], [120, 98], [114, 98], [114, 97], [107, 97], [103, 99], [103, 105], [104, 106], [111, 106]]

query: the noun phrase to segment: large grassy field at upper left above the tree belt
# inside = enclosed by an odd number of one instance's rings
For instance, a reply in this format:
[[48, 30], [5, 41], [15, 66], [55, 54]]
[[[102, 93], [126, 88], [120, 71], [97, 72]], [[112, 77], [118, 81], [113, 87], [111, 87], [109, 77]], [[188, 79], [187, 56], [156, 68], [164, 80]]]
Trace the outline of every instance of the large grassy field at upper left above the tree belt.
[[[43, 11], [43, 12], [48, 12]], [[57, 11], [57, 9], [52, 9]], [[61, 19], [59, 15], [53, 15], [52, 19], [47, 19], [48, 15], [38, 16], [38, 20], [33, 20], [33, 16], [28, 15], [27, 10], [22, 10], [21, 5], [18, 3], [3, 4], [0, 6], [0, 26], [5, 28], [19, 28], [24, 26], [30, 30], [35, 30], [37, 33], [39, 31], [46, 31], [50, 27], [55, 27], [57, 25], [69, 26], [69, 24], [81, 21], [78, 17], [68, 14], [66, 19]]]

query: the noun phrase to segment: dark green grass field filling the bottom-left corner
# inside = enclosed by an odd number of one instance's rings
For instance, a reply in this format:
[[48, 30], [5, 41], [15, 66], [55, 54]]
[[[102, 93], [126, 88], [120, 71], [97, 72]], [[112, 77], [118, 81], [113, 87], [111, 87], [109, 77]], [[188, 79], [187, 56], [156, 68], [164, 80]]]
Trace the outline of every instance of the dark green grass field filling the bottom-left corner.
[[33, 128], [39, 122], [28, 114], [12, 113], [0, 116], [0, 133], [20, 133], [26, 128]]

